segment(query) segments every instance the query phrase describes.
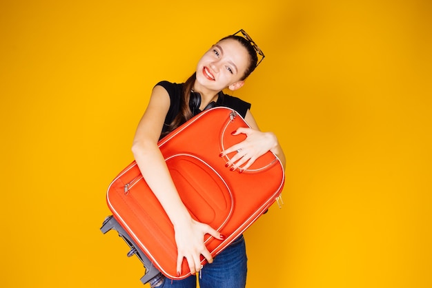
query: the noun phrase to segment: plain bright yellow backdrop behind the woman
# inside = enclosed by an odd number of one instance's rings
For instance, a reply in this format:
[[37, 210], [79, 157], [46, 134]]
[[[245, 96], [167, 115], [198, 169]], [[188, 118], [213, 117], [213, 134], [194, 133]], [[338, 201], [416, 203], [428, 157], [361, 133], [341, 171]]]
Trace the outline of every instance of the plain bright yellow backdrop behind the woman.
[[431, 1], [0, 3], [0, 287], [143, 287], [99, 227], [150, 90], [244, 28], [287, 158], [248, 288], [432, 287]]

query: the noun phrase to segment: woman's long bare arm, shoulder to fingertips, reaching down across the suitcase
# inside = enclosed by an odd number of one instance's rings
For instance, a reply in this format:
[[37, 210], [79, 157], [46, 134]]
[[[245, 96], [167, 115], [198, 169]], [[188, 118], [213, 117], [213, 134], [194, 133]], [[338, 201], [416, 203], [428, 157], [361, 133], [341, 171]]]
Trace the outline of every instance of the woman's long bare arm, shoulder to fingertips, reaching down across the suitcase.
[[132, 153], [146, 183], [173, 223], [178, 252], [177, 274], [180, 274], [183, 258], [188, 261], [190, 273], [195, 274], [195, 271], [199, 271], [201, 267], [200, 254], [209, 263], [213, 262], [213, 258], [204, 245], [204, 234], [208, 233], [219, 239], [222, 239], [222, 236], [215, 229], [198, 223], [190, 216], [179, 197], [164, 157], [157, 146], [169, 107], [168, 92], [161, 86], [155, 86], [146, 112], [139, 121]]

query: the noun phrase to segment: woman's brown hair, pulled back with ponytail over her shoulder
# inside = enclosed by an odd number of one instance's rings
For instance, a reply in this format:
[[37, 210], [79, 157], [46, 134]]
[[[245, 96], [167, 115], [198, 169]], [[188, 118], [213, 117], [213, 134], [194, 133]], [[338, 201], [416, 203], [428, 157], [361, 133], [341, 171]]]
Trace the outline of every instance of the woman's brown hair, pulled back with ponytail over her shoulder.
[[[239, 41], [239, 43], [242, 44], [243, 47], [246, 48], [246, 50], [248, 51], [249, 65], [248, 65], [248, 68], [246, 68], [246, 72], [244, 72], [242, 79], [240, 79], [240, 80], [244, 80], [257, 67], [257, 61], [258, 61], [257, 53], [255, 52], [255, 49], [253, 48], [253, 46], [251, 45], [251, 43], [248, 40], [244, 39], [243, 37], [237, 36], [237, 35], [229, 35], [227, 37], [224, 37], [224, 38], [220, 39], [218, 41], [218, 43], [220, 41], [226, 40], [226, 39], [235, 39], [235, 40]], [[190, 107], [189, 107], [189, 100], [190, 100], [190, 91], [193, 88], [193, 84], [195, 83], [195, 79], [197, 79], [196, 72], [193, 73], [188, 78], [188, 80], [186, 80], [186, 82], [184, 83], [183, 90], [181, 91], [180, 111], [177, 114], [177, 116], [175, 116], [175, 119], [173, 120], [173, 122], [170, 123], [170, 125], [168, 127], [168, 132], [165, 132], [163, 134], [163, 136], [165, 136], [169, 132], [175, 130], [175, 128], [179, 127], [181, 124], [185, 123], [186, 121], [188, 121], [189, 119], [192, 118], [193, 114], [192, 114], [192, 111], [190, 110]]]

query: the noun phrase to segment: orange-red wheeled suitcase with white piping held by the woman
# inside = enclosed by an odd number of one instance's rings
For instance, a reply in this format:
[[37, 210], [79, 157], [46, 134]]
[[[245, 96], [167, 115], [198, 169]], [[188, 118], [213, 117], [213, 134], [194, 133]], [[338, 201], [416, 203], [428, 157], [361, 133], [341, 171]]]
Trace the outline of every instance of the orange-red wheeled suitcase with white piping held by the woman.
[[[268, 207], [279, 199], [284, 169], [272, 152], [259, 157], [242, 173], [225, 167], [234, 155], [220, 157], [226, 148], [243, 141], [234, 136], [238, 127], [248, 127], [234, 110], [215, 107], [198, 114], [159, 141], [171, 177], [191, 216], [225, 236], [206, 235], [206, 247], [214, 257], [242, 234]], [[173, 225], [144, 181], [133, 161], [108, 187], [106, 196], [112, 216], [102, 232], [115, 229], [146, 267], [141, 281], [148, 282], [159, 271], [179, 280], [190, 275], [184, 259], [177, 276], [177, 247]], [[206, 260], [202, 257], [202, 264]]]

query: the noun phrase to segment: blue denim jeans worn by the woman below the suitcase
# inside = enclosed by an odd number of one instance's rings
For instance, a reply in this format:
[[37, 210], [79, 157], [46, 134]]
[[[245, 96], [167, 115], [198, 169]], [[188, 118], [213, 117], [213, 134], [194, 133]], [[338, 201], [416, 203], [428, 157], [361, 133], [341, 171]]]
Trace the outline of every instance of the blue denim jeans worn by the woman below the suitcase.
[[[246, 245], [243, 236], [231, 243], [213, 259], [213, 263], [204, 265], [199, 273], [200, 288], [244, 288], [247, 272]], [[157, 288], [195, 288], [195, 275], [183, 280], [164, 279]]]

